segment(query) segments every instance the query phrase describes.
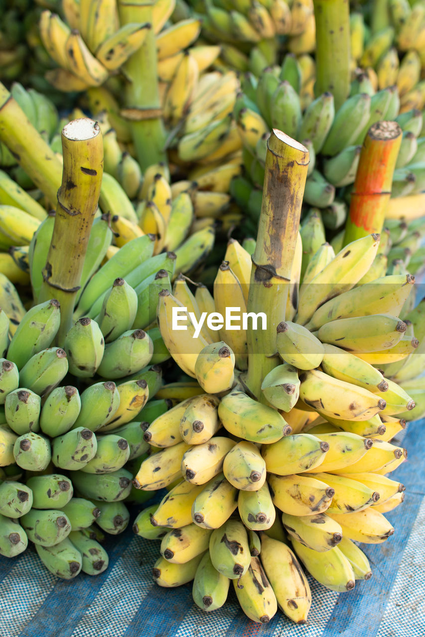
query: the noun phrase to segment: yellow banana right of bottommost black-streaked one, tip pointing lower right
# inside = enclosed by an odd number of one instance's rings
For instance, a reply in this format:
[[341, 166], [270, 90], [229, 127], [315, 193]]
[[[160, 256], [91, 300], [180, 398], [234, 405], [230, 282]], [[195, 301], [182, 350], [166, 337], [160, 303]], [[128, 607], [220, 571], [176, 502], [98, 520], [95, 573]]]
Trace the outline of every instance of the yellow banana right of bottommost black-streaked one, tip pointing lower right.
[[311, 575], [327, 589], [337, 592], [353, 590], [355, 575], [350, 561], [338, 547], [317, 552], [292, 538], [295, 553]]

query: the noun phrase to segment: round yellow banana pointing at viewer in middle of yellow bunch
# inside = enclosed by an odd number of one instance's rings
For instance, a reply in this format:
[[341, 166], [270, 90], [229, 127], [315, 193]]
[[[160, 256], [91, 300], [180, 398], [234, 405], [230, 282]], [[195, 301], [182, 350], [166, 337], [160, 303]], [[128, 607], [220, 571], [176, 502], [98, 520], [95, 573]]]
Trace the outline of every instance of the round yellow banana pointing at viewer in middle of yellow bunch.
[[265, 462], [258, 447], [244, 440], [237, 443], [225, 456], [223, 473], [237, 489], [261, 489], [265, 483]]

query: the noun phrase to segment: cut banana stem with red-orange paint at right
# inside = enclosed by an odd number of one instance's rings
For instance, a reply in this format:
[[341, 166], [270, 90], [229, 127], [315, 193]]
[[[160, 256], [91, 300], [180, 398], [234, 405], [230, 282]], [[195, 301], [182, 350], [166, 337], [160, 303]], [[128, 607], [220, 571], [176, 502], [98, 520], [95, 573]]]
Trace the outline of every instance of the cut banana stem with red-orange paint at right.
[[382, 232], [401, 138], [397, 122], [377, 122], [369, 128], [355, 175], [343, 245]]

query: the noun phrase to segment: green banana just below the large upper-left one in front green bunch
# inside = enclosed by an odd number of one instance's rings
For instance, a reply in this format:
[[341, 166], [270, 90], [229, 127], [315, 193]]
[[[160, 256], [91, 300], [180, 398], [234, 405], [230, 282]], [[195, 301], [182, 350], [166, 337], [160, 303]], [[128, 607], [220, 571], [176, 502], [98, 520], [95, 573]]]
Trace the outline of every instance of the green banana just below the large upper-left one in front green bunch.
[[43, 396], [50, 394], [68, 371], [66, 352], [60, 347], [48, 347], [34, 354], [19, 372], [20, 384]]

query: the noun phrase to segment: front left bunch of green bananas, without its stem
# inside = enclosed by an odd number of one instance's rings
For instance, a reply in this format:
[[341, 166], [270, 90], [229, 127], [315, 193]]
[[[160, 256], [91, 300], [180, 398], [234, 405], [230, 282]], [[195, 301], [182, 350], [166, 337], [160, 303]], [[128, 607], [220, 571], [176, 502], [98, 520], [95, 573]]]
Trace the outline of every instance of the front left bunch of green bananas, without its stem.
[[[86, 268], [102, 258], [102, 233], [111, 233], [107, 221], [100, 218], [98, 225], [103, 231], [95, 222]], [[37, 250], [50, 241], [44, 235], [41, 224], [33, 268], [41, 258]], [[152, 254], [154, 238], [144, 235], [142, 243]], [[147, 248], [140, 261], [150, 265]], [[171, 272], [174, 261], [175, 255], [163, 259], [163, 266]], [[100, 272], [105, 282], [107, 273]], [[168, 272], [161, 272], [169, 282]], [[40, 276], [38, 269], [33, 273]], [[147, 499], [132, 487], [133, 463], [149, 449], [147, 420], [173, 404], [148, 402], [162, 385], [162, 370], [153, 361], [168, 353], [152, 325], [147, 331], [133, 327], [138, 297], [123, 278], [106, 283], [97, 320], [76, 320], [62, 347], [53, 345], [59, 303], [53, 299], [25, 311], [13, 284], [3, 275], [0, 283], [0, 554], [18, 555], [31, 541], [54, 575], [98, 575], [108, 566], [101, 546], [105, 533], [124, 531], [127, 505]], [[99, 278], [96, 285], [101, 290]]]

